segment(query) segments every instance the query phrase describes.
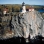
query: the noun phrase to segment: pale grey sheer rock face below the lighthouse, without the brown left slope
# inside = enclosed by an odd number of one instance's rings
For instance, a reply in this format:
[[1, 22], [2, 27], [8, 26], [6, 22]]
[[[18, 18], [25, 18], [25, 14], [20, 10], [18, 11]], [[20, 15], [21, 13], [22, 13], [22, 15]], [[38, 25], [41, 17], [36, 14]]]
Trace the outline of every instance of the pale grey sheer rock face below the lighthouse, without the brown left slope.
[[44, 20], [37, 11], [26, 12], [12, 17], [12, 30], [15, 36], [31, 38], [40, 34], [44, 36]]

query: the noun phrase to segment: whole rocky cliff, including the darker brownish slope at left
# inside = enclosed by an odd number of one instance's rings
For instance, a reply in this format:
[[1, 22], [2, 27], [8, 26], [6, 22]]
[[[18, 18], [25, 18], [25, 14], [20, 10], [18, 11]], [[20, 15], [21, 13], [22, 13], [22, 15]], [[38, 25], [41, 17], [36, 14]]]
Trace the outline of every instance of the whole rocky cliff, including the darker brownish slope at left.
[[[6, 19], [4, 19], [6, 18]], [[33, 37], [42, 35], [44, 37], [44, 19], [38, 11], [20, 13], [12, 17], [4, 17], [3, 29], [0, 30], [0, 39], [24, 37], [33, 39]], [[11, 20], [9, 20], [10, 18]], [[5, 26], [4, 26], [5, 25]], [[3, 34], [1, 34], [4, 32]]]

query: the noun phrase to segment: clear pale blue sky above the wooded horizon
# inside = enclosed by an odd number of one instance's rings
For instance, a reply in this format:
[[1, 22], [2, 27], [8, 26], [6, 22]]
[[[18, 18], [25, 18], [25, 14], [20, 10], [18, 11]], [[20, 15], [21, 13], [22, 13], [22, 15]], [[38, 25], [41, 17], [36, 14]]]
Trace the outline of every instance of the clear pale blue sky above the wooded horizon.
[[44, 5], [44, 0], [0, 0], [0, 4], [25, 4], [29, 5]]

